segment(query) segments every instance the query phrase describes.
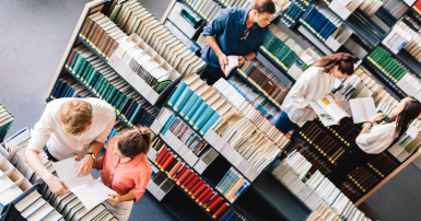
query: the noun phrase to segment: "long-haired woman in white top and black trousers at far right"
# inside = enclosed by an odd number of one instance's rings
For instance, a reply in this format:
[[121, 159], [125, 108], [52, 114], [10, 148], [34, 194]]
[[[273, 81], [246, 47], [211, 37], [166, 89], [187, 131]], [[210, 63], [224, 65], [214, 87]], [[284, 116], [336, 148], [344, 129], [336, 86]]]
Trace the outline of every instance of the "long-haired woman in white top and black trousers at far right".
[[394, 109], [394, 116], [386, 123], [376, 124], [386, 117], [378, 113], [365, 123], [355, 141], [339, 158], [338, 165], [329, 179], [338, 188], [354, 168], [366, 165], [375, 155], [398, 142], [409, 125], [421, 114], [421, 103], [409, 96], [401, 100]]

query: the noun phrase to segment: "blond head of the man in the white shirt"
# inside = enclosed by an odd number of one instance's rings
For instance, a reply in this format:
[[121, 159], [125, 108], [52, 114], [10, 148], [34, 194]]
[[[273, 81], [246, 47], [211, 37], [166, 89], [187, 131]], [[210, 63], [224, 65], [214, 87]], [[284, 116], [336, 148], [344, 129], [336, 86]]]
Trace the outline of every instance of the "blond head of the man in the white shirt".
[[61, 109], [60, 119], [65, 131], [73, 136], [80, 136], [91, 128], [92, 106], [83, 100], [72, 100], [66, 103]]

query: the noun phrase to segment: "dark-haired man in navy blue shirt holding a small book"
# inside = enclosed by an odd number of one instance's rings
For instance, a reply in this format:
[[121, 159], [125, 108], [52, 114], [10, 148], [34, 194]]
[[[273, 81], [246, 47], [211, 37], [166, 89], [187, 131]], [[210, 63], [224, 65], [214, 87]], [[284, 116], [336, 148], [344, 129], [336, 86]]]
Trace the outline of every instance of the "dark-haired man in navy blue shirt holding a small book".
[[207, 62], [200, 75], [209, 85], [225, 74], [226, 56], [238, 56], [238, 66], [255, 58], [269, 32], [270, 20], [276, 12], [271, 0], [257, 0], [253, 9], [233, 7], [224, 9], [203, 28], [206, 45], [201, 58]]

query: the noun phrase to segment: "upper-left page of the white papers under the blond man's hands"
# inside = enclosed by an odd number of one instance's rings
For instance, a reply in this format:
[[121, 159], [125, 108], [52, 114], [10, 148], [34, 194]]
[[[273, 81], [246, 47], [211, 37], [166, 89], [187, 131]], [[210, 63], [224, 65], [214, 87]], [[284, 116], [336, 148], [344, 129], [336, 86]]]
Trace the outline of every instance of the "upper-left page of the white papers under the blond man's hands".
[[75, 161], [74, 156], [54, 163], [58, 177], [65, 182], [69, 189], [94, 181], [94, 177], [92, 177], [91, 174], [87, 176], [77, 177], [78, 165], [79, 161]]

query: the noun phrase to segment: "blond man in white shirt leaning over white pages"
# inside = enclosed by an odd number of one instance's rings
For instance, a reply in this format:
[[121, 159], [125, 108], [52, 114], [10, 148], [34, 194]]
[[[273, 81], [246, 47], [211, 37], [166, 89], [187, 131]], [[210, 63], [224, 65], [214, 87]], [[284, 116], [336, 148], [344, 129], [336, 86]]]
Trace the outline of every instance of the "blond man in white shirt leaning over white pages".
[[26, 161], [55, 194], [67, 194], [66, 184], [48, 172], [38, 153], [44, 148], [51, 161], [80, 155], [83, 159], [79, 163], [78, 176], [89, 175], [115, 120], [113, 107], [98, 98], [51, 101], [31, 132]]

